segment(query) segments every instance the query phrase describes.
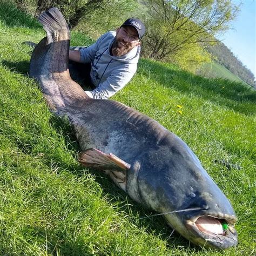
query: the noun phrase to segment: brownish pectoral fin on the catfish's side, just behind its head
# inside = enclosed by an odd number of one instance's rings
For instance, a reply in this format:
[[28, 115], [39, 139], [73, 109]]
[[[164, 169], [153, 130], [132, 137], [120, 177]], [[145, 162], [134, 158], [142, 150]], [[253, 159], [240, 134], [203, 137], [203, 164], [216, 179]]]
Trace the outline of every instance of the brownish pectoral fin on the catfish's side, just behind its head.
[[96, 167], [101, 170], [125, 171], [130, 169], [130, 164], [112, 153], [106, 154], [97, 149], [87, 149], [79, 153], [78, 161], [88, 167]]

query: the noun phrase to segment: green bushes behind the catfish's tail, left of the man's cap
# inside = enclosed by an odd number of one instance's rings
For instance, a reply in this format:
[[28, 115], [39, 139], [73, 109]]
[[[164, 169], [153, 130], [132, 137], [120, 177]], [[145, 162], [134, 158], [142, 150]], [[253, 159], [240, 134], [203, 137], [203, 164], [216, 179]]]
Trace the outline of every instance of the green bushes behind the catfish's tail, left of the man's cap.
[[18, 8], [38, 17], [46, 9], [57, 7], [71, 29], [97, 38], [115, 29], [134, 15], [137, 0], [12, 0]]

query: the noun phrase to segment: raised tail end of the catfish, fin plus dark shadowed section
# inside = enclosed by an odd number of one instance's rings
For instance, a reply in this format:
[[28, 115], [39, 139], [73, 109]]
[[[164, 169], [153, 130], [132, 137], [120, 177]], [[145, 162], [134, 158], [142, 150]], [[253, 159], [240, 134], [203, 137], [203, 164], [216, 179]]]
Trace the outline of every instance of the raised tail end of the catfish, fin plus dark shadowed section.
[[29, 73], [37, 80], [51, 79], [53, 73], [68, 70], [70, 30], [62, 13], [55, 7], [43, 12], [38, 21], [43, 25], [47, 37], [33, 50]]

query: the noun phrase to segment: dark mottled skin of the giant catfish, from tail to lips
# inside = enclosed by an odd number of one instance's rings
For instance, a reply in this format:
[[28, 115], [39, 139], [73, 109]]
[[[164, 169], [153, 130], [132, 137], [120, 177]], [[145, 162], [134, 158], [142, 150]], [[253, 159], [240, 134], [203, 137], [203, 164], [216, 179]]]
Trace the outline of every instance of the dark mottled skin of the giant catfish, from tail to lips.
[[[201, 208], [164, 215], [170, 226], [194, 244], [219, 249], [237, 245], [233, 207], [191, 149], [156, 120], [129, 106], [87, 97], [69, 74], [70, 31], [64, 17], [51, 8], [39, 22], [48, 36], [33, 50], [30, 76], [38, 81], [50, 109], [68, 116], [82, 151], [112, 153], [129, 164], [124, 172], [105, 171], [132, 199], [154, 211]], [[97, 151], [93, 152], [97, 158]], [[225, 219], [226, 235], [199, 232], [194, 223], [204, 215]]]

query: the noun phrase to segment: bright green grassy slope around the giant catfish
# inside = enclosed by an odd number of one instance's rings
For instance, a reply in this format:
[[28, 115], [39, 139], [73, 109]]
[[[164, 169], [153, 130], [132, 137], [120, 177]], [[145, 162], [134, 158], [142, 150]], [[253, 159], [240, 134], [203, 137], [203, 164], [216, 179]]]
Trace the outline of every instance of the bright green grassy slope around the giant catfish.
[[[185, 140], [231, 200], [238, 247], [204, 250], [177, 233], [169, 238], [162, 218], [139, 219], [151, 211], [100, 172], [78, 165], [69, 124], [49, 112], [26, 75], [31, 49], [22, 42], [43, 36], [35, 21], [0, 5], [0, 253], [253, 254], [255, 92], [144, 59], [132, 82], [114, 96]], [[73, 45], [84, 42], [86, 37], [72, 35]], [[227, 170], [215, 159], [241, 170]]]

